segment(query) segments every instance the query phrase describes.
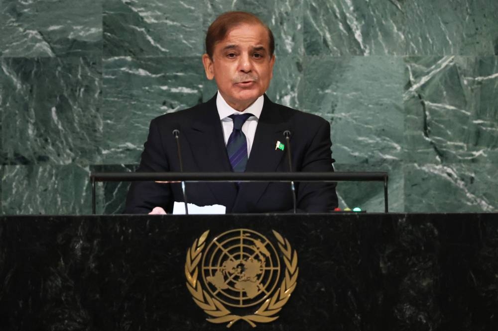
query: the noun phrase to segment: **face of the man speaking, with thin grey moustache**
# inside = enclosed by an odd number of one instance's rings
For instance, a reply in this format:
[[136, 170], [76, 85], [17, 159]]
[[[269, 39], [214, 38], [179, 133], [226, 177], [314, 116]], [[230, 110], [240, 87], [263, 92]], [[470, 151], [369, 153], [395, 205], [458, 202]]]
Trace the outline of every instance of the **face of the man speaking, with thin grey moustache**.
[[221, 95], [243, 111], [270, 84], [275, 56], [270, 57], [268, 31], [260, 24], [241, 24], [215, 44], [213, 59], [202, 57], [206, 76], [213, 78]]

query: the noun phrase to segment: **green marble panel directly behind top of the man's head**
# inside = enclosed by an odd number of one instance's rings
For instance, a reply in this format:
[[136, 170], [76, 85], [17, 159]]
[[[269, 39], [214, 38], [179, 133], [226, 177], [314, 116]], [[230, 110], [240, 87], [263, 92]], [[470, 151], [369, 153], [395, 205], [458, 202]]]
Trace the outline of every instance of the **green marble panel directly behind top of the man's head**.
[[303, 54], [304, 52], [303, 1], [301, 0], [204, 0], [204, 5], [206, 8], [203, 15], [204, 33], [215, 18], [225, 11], [249, 11], [258, 16], [271, 29], [275, 38], [276, 56]]

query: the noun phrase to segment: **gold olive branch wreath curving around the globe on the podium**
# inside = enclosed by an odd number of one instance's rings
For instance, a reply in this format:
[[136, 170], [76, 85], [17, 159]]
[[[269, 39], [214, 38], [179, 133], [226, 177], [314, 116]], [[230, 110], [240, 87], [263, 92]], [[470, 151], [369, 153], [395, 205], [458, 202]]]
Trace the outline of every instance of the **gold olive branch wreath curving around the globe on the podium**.
[[216, 298], [212, 298], [202, 289], [201, 283], [197, 281], [199, 276], [198, 264], [202, 257], [202, 251], [206, 244], [209, 230], [204, 232], [199, 239], [194, 241], [191, 248], [187, 250], [187, 260], [185, 263], [185, 276], [187, 277], [187, 288], [192, 294], [194, 302], [206, 314], [213, 318], [207, 319], [211, 323], [227, 323], [227, 328], [230, 328], [239, 320], [246, 321], [251, 327], [256, 327], [254, 322], [268, 323], [278, 319], [275, 316], [282, 307], [287, 303], [290, 295], [296, 288], [297, 275], [299, 268], [297, 267], [297, 252], [292, 251], [290, 243], [284, 239], [278, 232], [273, 230], [273, 235], [278, 241], [278, 247], [283, 255], [283, 260], [286, 265], [285, 277], [271, 298], [266, 299], [263, 304], [252, 315], [239, 316], [232, 314], [225, 306]]

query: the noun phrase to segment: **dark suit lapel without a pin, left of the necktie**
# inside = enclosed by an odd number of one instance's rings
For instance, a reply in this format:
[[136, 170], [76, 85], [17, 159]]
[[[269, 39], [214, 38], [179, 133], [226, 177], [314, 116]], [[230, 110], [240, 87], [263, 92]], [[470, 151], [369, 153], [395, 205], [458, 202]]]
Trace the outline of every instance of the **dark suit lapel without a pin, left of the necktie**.
[[[230, 161], [223, 138], [223, 128], [216, 107], [216, 95], [206, 102], [195, 122], [185, 128], [186, 138], [197, 168], [201, 172], [231, 171]], [[232, 209], [237, 188], [234, 183], [207, 182], [216, 199]]]

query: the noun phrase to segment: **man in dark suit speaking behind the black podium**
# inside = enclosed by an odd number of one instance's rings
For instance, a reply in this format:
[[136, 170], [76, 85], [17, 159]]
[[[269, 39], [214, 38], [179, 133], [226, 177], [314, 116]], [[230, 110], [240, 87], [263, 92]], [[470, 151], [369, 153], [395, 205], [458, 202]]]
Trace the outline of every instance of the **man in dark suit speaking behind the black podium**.
[[[151, 121], [137, 171], [180, 171], [173, 131], [180, 132], [183, 170], [289, 171], [284, 131], [291, 133], [295, 171], [333, 171], [330, 125], [309, 113], [271, 102], [264, 94], [275, 62], [270, 29], [240, 11], [220, 15], [206, 35], [202, 61], [218, 93], [206, 103]], [[164, 214], [183, 201], [179, 184], [135, 182], [126, 213]], [[286, 212], [293, 208], [289, 183], [187, 183], [187, 201], [221, 204], [227, 213]], [[335, 184], [296, 183], [300, 212], [331, 212], [337, 207]]]

